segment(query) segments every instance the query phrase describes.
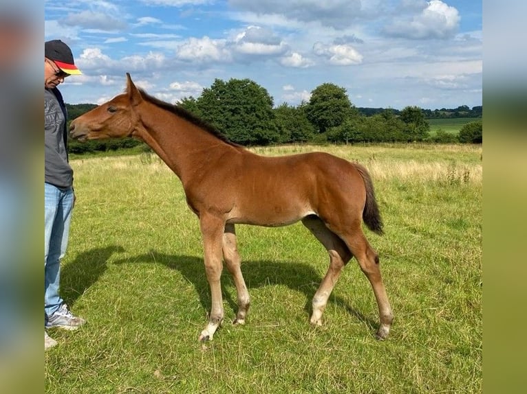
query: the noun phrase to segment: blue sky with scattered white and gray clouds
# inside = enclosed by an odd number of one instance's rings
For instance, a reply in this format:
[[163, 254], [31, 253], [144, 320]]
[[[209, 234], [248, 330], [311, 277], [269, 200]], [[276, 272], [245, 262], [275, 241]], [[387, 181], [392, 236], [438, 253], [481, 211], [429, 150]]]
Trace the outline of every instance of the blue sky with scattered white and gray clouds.
[[248, 78], [275, 106], [323, 83], [358, 107], [482, 105], [482, 1], [47, 0], [45, 40], [72, 48], [69, 104], [102, 104], [125, 74], [175, 103]]

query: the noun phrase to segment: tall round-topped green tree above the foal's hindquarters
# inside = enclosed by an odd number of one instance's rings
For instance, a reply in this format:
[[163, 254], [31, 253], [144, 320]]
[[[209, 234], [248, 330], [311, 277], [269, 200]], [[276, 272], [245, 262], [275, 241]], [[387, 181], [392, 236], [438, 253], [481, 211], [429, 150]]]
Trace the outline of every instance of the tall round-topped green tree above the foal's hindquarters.
[[305, 115], [320, 133], [340, 126], [352, 115], [358, 115], [357, 109], [347, 97], [346, 89], [331, 83], [317, 86], [311, 92], [304, 109]]

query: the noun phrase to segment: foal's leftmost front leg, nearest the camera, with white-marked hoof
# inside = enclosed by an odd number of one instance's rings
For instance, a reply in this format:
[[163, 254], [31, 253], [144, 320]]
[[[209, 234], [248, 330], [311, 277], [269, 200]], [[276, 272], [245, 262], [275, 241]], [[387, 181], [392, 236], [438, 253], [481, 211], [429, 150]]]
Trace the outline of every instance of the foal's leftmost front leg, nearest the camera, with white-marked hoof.
[[204, 264], [208, 285], [211, 288], [211, 314], [208, 324], [200, 334], [200, 341], [212, 340], [217, 328], [222, 324], [224, 308], [222, 299], [222, 236], [224, 222], [213, 216], [200, 217], [200, 229], [203, 237]]

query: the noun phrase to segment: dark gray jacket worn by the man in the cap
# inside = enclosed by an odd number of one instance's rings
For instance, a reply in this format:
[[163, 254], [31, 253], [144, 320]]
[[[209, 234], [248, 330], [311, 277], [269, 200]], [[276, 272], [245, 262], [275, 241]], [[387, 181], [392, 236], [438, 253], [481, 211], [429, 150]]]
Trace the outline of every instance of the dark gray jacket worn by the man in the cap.
[[45, 182], [60, 189], [73, 187], [67, 157], [67, 112], [58, 89], [44, 89]]

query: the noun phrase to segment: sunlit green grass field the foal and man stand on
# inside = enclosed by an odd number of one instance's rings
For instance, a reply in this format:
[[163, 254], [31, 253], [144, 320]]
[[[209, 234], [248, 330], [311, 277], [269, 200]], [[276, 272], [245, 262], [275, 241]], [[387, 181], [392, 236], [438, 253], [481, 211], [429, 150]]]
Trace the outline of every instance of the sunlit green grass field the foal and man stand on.
[[210, 295], [197, 218], [180, 181], [153, 154], [74, 159], [77, 202], [62, 295], [88, 323], [52, 330], [46, 393], [481, 393], [481, 146], [284, 146], [365, 164], [385, 235], [380, 255], [396, 316], [374, 338], [378, 311], [354, 260], [311, 327], [311, 299], [327, 270], [301, 225], [238, 226], [252, 297], [233, 326], [236, 294], [209, 343]]

